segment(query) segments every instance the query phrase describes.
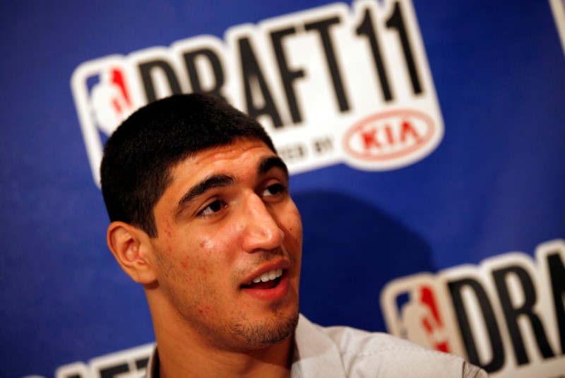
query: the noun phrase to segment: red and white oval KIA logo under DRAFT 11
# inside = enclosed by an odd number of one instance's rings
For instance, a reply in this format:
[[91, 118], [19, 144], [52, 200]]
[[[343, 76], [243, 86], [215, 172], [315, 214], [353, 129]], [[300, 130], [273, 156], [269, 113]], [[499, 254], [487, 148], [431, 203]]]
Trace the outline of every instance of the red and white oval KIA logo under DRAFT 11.
[[374, 114], [353, 125], [343, 138], [345, 152], [364, 161], [406, 158], [427, 147], [438, 130], [427, 114], [394, 110]]

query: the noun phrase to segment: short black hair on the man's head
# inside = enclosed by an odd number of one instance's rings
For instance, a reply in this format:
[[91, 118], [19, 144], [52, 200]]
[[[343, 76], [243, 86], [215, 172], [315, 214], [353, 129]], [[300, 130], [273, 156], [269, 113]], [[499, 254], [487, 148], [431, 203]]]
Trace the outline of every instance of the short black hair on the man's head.
[[276, 153], [261, 124], [210, 95], [173, 95], [137, 110], [108, 139], [100, 165], [110, 220], [157, 237], [153, 208], [174, 165], [238, 138], [263, 141]]

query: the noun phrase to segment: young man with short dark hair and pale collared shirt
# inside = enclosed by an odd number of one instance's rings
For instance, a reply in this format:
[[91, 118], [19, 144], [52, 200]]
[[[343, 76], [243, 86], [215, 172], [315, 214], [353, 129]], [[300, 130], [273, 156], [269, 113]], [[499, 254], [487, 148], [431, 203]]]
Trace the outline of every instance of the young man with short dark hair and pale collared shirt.
[[[263, 128], [177, 95], [132, 114], [101, 165], [107, 241], [143, 285], [149, 377], [483, 377], [461, 358], [299, 315], [302, 223]], [[484, 374], [484, 375], [482, 375]]]

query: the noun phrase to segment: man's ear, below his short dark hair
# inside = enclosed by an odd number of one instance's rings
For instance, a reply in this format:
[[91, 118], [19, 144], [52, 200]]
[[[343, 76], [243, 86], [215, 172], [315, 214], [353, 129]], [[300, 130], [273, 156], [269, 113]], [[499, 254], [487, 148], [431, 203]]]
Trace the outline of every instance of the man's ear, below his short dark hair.
[[137, 283], [149, 284], [157, 280], [151, 264], [149, 236], [124, 222], [112, 222], [108, 227], [107, 242], [110, 251], [122, 269]]

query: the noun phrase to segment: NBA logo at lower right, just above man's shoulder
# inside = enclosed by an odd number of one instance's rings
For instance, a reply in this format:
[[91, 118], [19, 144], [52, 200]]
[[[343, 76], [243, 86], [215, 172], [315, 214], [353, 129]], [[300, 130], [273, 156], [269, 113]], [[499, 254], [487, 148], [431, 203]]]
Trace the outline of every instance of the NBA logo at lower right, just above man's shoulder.
[[441, 352], [462, 355], [446, 285], [432, 274], [398, 278], [381, 292], [388, 332]]

